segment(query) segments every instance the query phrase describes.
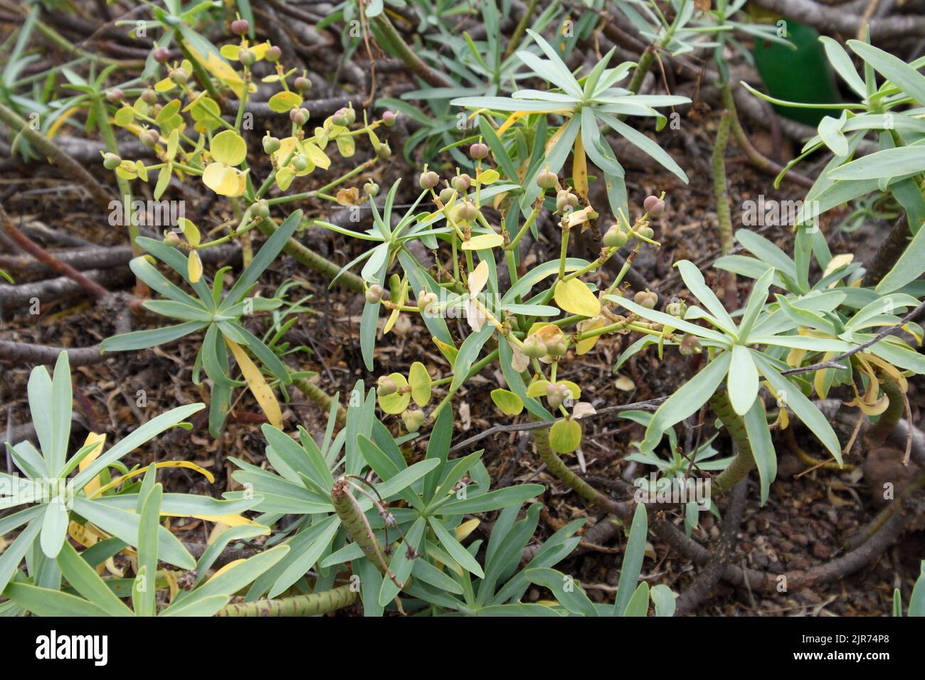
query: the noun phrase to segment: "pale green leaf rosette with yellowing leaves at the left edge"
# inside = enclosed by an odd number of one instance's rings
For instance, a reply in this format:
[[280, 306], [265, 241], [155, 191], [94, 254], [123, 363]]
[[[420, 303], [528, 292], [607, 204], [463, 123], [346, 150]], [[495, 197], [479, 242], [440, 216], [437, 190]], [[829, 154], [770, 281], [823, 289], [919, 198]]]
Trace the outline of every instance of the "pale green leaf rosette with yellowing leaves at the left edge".
[[[72, 398], [67, 352], [58, 356], [54, 378], [43, 366], [32, 370], [29, 402], [39, 448], [28, 440], [14, 446], [7, 444], [13, 463], [24, 476], [0, 473], [3, 491], [0, 508], [28, 507], [0, 520], [0, 536], [19, 530], [19, 535], [0, 554], [0, 587], [6, 587], [16, 577], [19, 562], [28, 556], [32, 583], [57, 589], [61, 569], [56, 559], [68, 542], [68, 535], [88, 547], [112, 538], [110, 545], [115, 541], [117, 548], [110, 555], [127, 546], [137, 547], [140, 506], [138, 488], [132, 480], [149, 468], [129, 470], [120, 460], [166, 429], [182, 427], [185, 418], [203, 409], [203, 404], [193, 403], [157, 415], [108, 451], [105, 451], [105, 436], [92, 434], [79, 451], [68, 456]], [[185, 462], [158, 466], [185, 466], [202, 471]], [[115, 479], [111, 467], [120, 473]], [[254, 499], [216, 501], [168, 493], [163, 497], [160, 512], [218, 517], [248, 510], [255, 502]], [[190, 553], [165, 527], [155, 526], [148, 539], [156, 542], [163, 562], [184, 569], [195, 566]]]

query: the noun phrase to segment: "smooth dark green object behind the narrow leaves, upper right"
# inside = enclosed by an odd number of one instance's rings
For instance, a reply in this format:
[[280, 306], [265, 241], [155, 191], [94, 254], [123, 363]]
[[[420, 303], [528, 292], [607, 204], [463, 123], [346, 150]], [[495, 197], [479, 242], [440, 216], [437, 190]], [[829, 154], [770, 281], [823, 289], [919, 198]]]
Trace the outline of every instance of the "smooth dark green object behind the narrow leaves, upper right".
[[[772, 97], [807, 104], [833, 104], [842, 101], [819, 33], [810, 26], [787, 22], [787, 37], [796, 50], [783, 44], [756, 40], [752, 55], [761, 80]], [[816, 127], [826, 111], [792, 106], [774, 106], [783, 117]]]

